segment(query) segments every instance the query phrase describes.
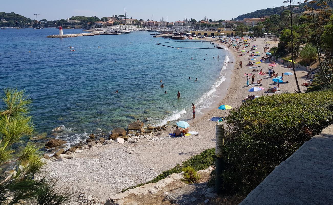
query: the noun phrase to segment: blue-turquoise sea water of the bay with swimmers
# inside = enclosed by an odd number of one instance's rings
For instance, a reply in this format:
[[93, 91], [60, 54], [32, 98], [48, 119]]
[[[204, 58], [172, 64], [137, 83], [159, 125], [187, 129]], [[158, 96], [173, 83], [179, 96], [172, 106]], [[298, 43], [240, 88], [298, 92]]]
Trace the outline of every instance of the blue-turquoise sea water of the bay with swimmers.
[[[82, 31], [64, 29], [64, 33]], [[46, 38], [52, 34], [58, 34], [58, 29], [0, 30], [0, 89], [25, 89], [33, 99], [36, 130], [52, 133], [54, 127], [64, 125], [66, 131], [59, 137], [70, 142], [97, 128], [108, 132], [126, 127], [137, 118], [149, 118], [151, 124], [187, 119], [191, 103], [200, 113], [225, 80], [223, 49], [168, 48], [155, 43], [174, 40], [152, 38], [143, 31]], [[165, 45], [213, 47], [197, 41]], [[70, 46], [76, 51], [69, 51]]]

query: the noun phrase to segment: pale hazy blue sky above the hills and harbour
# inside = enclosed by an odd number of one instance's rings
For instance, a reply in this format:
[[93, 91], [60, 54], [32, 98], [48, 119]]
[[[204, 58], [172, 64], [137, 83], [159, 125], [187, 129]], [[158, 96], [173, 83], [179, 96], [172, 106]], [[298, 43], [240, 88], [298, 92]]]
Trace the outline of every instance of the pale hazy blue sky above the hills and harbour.
[[[255, 3], [253, 3], [255, 2]], [[124, 15], [143, 20], [166, 20], [178, 21], [187, 19], [201, 20], [207, 16], [212, 20], [231, 20], [238, 15], [253, 12], [258, 9], [272, 8], [274, 6], [286, 6], [283, 0], [217, 0], [217, 1], [149, 1], [149, 0], [16, 0], [1, 3], [0, 12], [15, 12], [25, 17], [36, 19], [33, 14], [38, 15], [38, 20], [58, 20], [72, 16], [97, 16], [99, 18], [112, 15]]]

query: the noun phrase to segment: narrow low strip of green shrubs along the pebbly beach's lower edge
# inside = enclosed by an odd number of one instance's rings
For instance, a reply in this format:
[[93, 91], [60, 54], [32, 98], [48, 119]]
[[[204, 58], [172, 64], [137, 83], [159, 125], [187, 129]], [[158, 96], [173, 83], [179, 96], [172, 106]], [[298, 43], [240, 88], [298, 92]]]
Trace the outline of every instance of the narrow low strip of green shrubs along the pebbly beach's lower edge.
[[153, 179], [149, 182], [146, 182], [146, 183], [142, 183], [142, 184], [138, 184], [136, 186], [125, 188], [121, 192], [124, 192], [128, 189], [134, 189], [136, 187], [143, 186], [148, 183], [156, 183], [156, 182], [160, 181], [161, 179], [165, 179], [167, 176], [169, 176], [172, 173], [180, 173], [184, 167], [188, 167], [188, 166], [193, 167], [195, 171], [199, 171], [200, 169], [207, 169], [209, 166], [211, 166], [215, 163], [215, 158], [213, 158], [214, 155], [215, 155], [215, 148], [206, 149], [203, 152], [201, 152], [200, 154], [191, 156], [189, 159], [183, 161], [181, 165], [177, 164], [175, 167], [173, 167], [169, 170], [163, 171], [162, 174], [158, 175], [155, 179]]

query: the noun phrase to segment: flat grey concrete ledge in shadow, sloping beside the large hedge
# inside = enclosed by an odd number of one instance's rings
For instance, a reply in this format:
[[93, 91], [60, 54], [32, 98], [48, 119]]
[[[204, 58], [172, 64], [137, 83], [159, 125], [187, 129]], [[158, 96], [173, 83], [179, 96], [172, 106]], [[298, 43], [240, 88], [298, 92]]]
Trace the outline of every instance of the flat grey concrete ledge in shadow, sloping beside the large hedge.
[[239, 205], [333, 204], [333, 124], [277, 166]]

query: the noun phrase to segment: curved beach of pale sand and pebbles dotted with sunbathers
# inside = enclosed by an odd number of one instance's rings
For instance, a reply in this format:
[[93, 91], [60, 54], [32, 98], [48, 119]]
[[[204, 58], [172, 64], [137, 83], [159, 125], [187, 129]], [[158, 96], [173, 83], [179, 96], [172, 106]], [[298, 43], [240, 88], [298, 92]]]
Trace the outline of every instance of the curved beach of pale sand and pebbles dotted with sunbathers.
[[[257, 46], [258, 49], [255, 51], [260, 51], [260, 55], [264, 53], [263, 48], [266, 44], [263, 38], [251, 41], [249, 47], [252, 45]], [[277, 46], [277, 43], [270, 43], [268, 46], [271, 48]], [[250, 48], [245, 50], [248, 51]], [[61, 183], [72, 184], [73, 190], [84, 191], [88, 195], [95, 195], [99, 199], [106, 200], [109, 196], [119, 193], [123, 188], [147, 182], [162, 171], [172, 168], [190, 156], [214, 147], [215, 126], [214, 122], [208, 119], [214, 116], [226, 116], [228, 112], [218, 110], [218, 105], [226, 104], [236, 108], [241, 105], [241, 100], [248, 97], [248, 95], [267, 95], [265, 91], [268, 88], [277, 86], [272, 84], [272, 78], [269, 78], [268, 75], [259, 75], [258, 72], [252, 72], [252, 69], [246, 66], [249, 61], [249, 54], [239, 57], [239, 52], [231, 47], [229, 53], [230, 62], [234, 61], [234, 63], [227, 64], [225, 70], [227, 80], [216, 89], [217, 92], [225, 93], [218, 93], [221, 96], [219, 101], [214, 102], [209, 108], [201, 110], [203, 114], [198, 115], [194, 120], [188, 120], [190, 131], [199, 132], [199, 135], [171, 138], [164, 131], [162, 135], [158, 136], [161, 139], [154, 142], [147, 142], [147, 140], [133, 144], [114, 142], [94, 147], [77, 153], [75, 159], [49, 163], [46, 166], [51, 175], [59, 179]], [[259, 60], [260, 58], [258, 58]], [[242, 68], [239, 68], [239, 61], [243, 61]], [[261, 66], [264, 72], [267, 72], [268, 64], [269, 62], [266, 60], [258, 65]], [[286, 67], [286, 65], [277, 64], [274, 70], [279, 76], [284, 72], [293, 72], [292, 68]], [[248, 92], [248, 89], [253, 85], [244, 87], [246, 85], [244, 73], [255, 74], [255, 83], [257, 79], [262, 78], [262, 86], [260, 87], [264, 87], [265, 90]], [[307, 72], [303, 69], [296, 70], [299, 84], [306, 81], [306, 74]], [[284, 81], [289, 81], [289, 83], [281, 83], [280, 92], [268, 93], [268, 95], [281, 94], [284, 91], [293, 93], [297, 90], [293, 75], [284, 76]], [[304, 92], [305, 87], [300, 87]], [[133, 149], [133, 153], [129, 154]], [[77, 202], [73, 202], [73, 204], [77, 204]]]

